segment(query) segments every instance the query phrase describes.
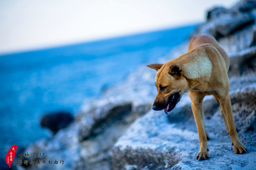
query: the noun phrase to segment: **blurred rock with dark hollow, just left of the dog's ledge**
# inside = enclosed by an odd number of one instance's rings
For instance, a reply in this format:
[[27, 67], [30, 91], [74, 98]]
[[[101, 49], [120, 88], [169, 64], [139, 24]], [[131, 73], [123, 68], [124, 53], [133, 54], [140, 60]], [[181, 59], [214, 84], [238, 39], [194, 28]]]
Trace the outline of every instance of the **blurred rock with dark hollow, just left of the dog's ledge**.
[[138, 117], [139, 114], [131, 112], [131, 104], [111, 109], [108, 119], [98, 122], [90, 136], [80, 141], [81, 157], [76, 169], [110, 169], [111, 148]]

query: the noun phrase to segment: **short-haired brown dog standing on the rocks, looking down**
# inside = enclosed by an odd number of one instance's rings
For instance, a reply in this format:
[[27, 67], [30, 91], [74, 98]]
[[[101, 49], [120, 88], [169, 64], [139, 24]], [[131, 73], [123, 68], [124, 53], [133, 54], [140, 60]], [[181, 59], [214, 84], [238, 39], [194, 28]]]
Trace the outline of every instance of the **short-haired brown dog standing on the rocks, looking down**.
[[195, 36], [189, 42], [188, 52], [165, 64], [147, 65], [157, 70], [157, 96], [155, 111], [172, 111], [184, 93], [189, 93], [192, 111], [198, 129], [200, 149], [198, 160], [209, 159], [202, 107], [204, 96], [213, 95], [220, 103], [227, 133], [230, 134], [235, 153], [246, 153], [241, 144], [228, 96], [230, 84], [227, 75], [229, 58], [211, 35]]

